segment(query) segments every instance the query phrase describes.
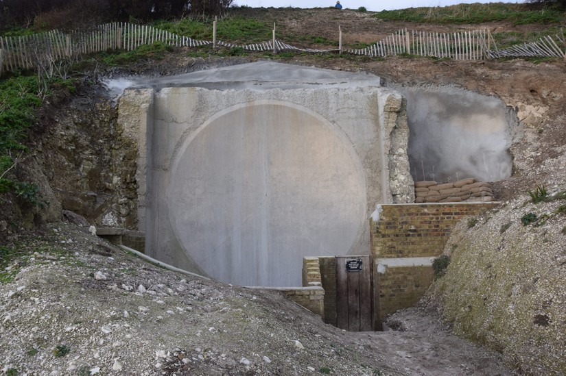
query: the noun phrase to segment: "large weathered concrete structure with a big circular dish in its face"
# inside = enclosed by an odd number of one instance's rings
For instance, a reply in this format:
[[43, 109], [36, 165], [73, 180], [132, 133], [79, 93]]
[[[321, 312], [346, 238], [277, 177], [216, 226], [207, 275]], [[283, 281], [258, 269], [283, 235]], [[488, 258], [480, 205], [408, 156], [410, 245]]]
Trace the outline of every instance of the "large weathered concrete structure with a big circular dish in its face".
[[247, 286], [300, 286], [305, 255], [368, 253], [375, 204], [413, 199], [390, 184], [397, 153], [395, 179], [412, 186], [401, 96], [366, 74], [232, 69], [120, 100], [141, 109], [132, 126], [148, 119], [146, 253]]

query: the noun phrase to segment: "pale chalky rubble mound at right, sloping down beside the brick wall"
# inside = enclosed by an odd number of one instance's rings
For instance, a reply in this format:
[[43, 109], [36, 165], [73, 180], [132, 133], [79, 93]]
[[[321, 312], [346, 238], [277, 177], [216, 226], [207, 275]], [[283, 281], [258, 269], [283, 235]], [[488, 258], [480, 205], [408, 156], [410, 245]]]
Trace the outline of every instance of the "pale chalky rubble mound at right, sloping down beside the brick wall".
[[447, 274], [429, 296], [456, 334], [527, 374], [566, 373], [566, 191], [554, 193], [542, 203], [523, 195], [460, 223], [445, 249]]

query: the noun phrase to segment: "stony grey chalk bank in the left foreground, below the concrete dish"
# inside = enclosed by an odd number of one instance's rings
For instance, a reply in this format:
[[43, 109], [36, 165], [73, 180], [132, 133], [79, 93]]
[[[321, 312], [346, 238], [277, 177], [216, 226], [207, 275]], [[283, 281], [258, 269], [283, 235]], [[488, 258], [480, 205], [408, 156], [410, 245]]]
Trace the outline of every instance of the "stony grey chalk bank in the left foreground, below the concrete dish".
[[0, 288], [0, 370], [18, 375], [511, 375], [414, 308], [351, 333], [279, 292], [167, 271], [60, 223]]

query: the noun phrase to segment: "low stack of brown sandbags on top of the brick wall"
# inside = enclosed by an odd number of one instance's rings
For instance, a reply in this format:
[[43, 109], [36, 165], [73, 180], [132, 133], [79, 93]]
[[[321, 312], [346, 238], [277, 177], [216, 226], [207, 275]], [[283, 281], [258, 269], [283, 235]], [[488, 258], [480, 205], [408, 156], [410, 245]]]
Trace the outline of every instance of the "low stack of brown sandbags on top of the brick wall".
[[443, 184], [432, 180], [416, 181], [414, 193], [416, 203], [495, 201], [489, 183], [472, 177]]

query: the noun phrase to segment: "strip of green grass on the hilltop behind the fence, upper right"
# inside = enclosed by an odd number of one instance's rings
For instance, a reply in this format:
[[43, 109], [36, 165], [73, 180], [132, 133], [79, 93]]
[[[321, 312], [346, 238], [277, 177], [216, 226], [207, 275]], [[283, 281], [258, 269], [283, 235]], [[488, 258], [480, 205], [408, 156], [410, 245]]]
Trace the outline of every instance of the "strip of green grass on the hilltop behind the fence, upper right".
[[416, 23], [486, 23], [508, 21], [513, 25], [531, 23], [563, 24], [566, 13], [552, 8], [512, 3], [473, 3], [447, 7], [408, 8], [402, 10], [384, 10], [375, 17], [384, 21], [407, 21]]

